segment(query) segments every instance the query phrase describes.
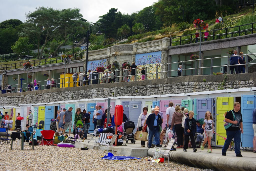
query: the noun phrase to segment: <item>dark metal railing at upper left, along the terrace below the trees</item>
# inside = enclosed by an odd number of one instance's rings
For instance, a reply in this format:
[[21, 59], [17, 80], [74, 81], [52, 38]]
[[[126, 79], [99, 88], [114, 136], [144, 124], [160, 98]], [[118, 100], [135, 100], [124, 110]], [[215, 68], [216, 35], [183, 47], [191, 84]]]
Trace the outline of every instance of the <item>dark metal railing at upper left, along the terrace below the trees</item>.
[[[79, 52], [71, 55], [72, 55], [71, 61], [81, 60], [84, 57], [84, 52]], [[24, 60], [24, 61], [28, 62], [28, 60]], [[24, 61], [22, 60], [22, 62], [0, 65], [0, 70], [13, 70], [13, 69], [23, 68], [23, 64], [25, 63]], [[30, 63], [33, 65], [33, 67], [40, 66], [40, 65], [53, 64], [58, 62], [63, 62], [63, 60], [61, 59], [61, 56], [30, 60]]]

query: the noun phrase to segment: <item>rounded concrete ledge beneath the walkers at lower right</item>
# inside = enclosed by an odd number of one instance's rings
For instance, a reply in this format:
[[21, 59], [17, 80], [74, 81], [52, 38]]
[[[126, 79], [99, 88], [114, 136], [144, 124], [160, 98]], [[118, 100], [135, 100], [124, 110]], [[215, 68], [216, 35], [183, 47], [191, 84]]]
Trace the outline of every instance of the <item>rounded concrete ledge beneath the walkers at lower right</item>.
[[[228, 151], [227, 156], [222, 156], [221, 149], [213, 149], [213, 153], [207, 153], [206, 150], [197, 150], [196, 153], [192, 152], [192, 149], [188, 149], [188, 152], [183, 152], [183, 149], [170, 151], [170, 161], [219, 171], [256, 170], [256, 156], [252, 152], [242, 152], [243, 157], [235, 157], [234, 151]], [[149, 149], [148, 155], [153, 156], [154, 151], [155, 148]]]

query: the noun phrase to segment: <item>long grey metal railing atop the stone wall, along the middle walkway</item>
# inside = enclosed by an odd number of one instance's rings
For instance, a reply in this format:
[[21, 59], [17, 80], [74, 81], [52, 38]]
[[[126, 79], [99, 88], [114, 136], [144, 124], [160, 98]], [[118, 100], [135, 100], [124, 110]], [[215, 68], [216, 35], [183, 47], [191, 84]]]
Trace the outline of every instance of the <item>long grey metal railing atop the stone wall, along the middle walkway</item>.
[[[151, 65], [151, 66], [146, 66], [145, 67], [145, 80], [148, 79], [158, 79], [158, 78], [168, 78], [168, 77], [172, 77], [172, 75], [177, 76], [177, 72], [178, 72], [178, 66], [181, 64], [183, 67], [184, 66], [188, 66], [190, 65], [191, 68], [186, 68], [184, 67], [182, 69], [182, 74], [181, 76], [186, 76], [186, 75], [198, 75], [198, 70], [199, 69], [209, 69], [209, 75], [213, 75], [213, 70], [214, 68], [222, 68], [222, 67], [227, 67], [227, 74], [230, 73], [230, 67], [232, 66], [241, 66], [241, 65], [245, 65], [245, 73], [248, 73], [248, 67], [250, 65], [254, 65], [256, 63], [248, 63], [248, 56], [249, 55], [255, 55], [256, 53], [252, 53], [252, 54], [244, 54], [245, 56], [245, 64], [236, 64], [236, 65], [230, 65], [230, 57], [234, 57], [234, 56], [240, 56], [240, 55], [232, 55], [232, 56], [220, 56], [220, 57], [215, 57], [215, 58], [206, 58], [206, 59], [198, 59], [198, 60], [187, 60], [187, 61], [178, 61], [178, 62], [172, 62], [172, 63], [166, 63], [166, 64], [156, 64], [156, 65]], [[214, 63], [218, 63], [220, 59], [223, 58], [227, 58], [227, 65], [214, 65]], [[204, 66], [204, 67], [197, 67], [198, 63], [200, 61], [206, 61], [209, 60], [210, 61], [210, 66]], [[176, 65], [177, 64], [177, 65]], [[186, 65], [188, 64], [188, 65]], [[193, 65], [191, 65], [193, 64]], [[172, 69], [172, 65], [175, 65], [175, 69]], [[176, 67], [177, 66], [177, 67]], [[138, 67], [137, 69], [142, 69], [143, 67]], [[137, 70], [135, 69], [135, 70]], [[131, 80], [131, 75], [130, 72], [131, 69], [127, 69], [127, 70], [116, 70], [114, 71], [114, 77], [110, 77], [108, 74], [106, 74], [106, 72], [94, 72], [92, 74], [83, 74], [82, 77], [83, 79], [80, 81], [80, 83], [82, 84], [82, 86], [86, 86], [89, 84], [101, 84], [101, 83], [111, 83], [111, 82], [127, 82], [127, 78], [129, 78]], [[152, 72], [154, 71], [154, 72]], [[190, 74], [188, 73], [190, 71]], [[127, 74], [129, 73], [129, 74]], [[173, 74], [174, 73], [174, 74]], [[135, 72], [134, 75], [134, 80], [133, 81], [138, 81], [141, 80], [141, 76], [143, 74], [137, 74], [137, 72]], [[216, 75], [216, 74], [214, 74]], [[90, 78], [90, 79], [87, 79]], [[78, 81], [73, 81], [73, 77], [65, 77], [65, 78], [57, 78], [54, 79], [55, 84], [49, 84], [49, 88], [54, 87], [55, 88], [62, 88], [62, 87], [73, 87], [74, 84], [75, 86], [77, 86], [78, 82], [79, 82], [79, 76], [77, 76]], [[47, 81], [48, 80], [44, 80], [44, 81], [39, 81], [36, 82], [38, 84], [38, 90], [42, 90], [42, 89], [47, 89], [46, 85], [47, 85]], [[30, 90], [35, 90], [37, 89], [34, 86], [34, 82], [33, 83], [29, 83], [32, 84], [31, 87], [27, 87], [27, 83], [23, 83], [23, 84], [15, 84], [15, 85], [10, 85], [11, 89], [7, 89], [6, 87], [3, 87], [3, 89], [5, 89], [7, 92], [13, 93], [13, 92], [23, 92], [23, 91], [30, 91]], [[112, 83], [114, 84], [114, 83]], [[26, 86], [26, 87], [25, 87]], [[19, 87], [19, 88], [18, 88]], [[2, 93], [2, 92], [1, 92]]]

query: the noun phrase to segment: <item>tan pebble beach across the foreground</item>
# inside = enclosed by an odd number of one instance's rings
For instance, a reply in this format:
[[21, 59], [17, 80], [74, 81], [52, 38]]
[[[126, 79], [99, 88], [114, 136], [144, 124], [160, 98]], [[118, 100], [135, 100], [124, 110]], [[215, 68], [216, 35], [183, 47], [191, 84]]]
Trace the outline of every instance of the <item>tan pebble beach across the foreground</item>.
[[[189, 170], [189, 171], [211, 171], [210, 169], [200, 169], [187, 165], [170, 162], [167, 167], [163, 163], [157, 163], [155, 166], [146, 161], [145, 157], [141, 160], [128, 161], [111, 161], [101, 159], [107, 153], [103, 151], [81, 150], [78, 148], [67, 148], [58, 146], [34, 146], [25, 143], [24, 151], [21, 150], [21, 142], [17, 145], [17, 141], [13, 142], [13, 150], [10, 145], [1, 145], [0, 168], [3, 171], [13, 170], [35, 170], [35, 171], [58, 171], [58, 170], [74, 170], [74, 171], [133, 171], [133, 170]], [[114, 155], [116, 155], [114, 153]]]

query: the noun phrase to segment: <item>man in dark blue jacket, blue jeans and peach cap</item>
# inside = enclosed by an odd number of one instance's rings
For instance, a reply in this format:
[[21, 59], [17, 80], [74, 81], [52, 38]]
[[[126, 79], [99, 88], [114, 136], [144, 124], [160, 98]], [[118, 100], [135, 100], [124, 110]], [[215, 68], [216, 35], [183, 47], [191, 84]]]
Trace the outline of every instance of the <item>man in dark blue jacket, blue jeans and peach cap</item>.
[[159, 113], [159, 108], [155, 107], [154, 113], [150, 114], [146, 121], [146, 124], [148, 125], [148, 128], [149, 128], [148, 148], [151, 148], [152, 138], [154, 135], [156, 139], [156, 146], [162, 147], [162, 145], [160, 145], [160, 130], [159, 130], [159, 127], [162, 127], [162, 118], [158, 113]]

